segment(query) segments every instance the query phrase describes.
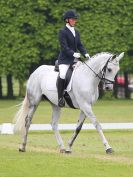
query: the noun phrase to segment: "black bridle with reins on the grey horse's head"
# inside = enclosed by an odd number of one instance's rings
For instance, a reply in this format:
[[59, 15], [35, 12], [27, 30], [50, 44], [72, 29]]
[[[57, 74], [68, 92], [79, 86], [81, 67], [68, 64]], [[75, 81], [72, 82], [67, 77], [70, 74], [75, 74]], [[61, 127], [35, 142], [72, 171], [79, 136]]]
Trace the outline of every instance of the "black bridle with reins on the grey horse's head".
[[112, 58], [112, 56], [107, 60], [103, 69], [101, 70], [102, 76], [100, 76], [98, 73], [96, 73], [89, 65], [87, 65], [86, 62], [83, 62], [83, 63], [95, 74], [96, 77], [98, 77], [100, 79], [100, 81], [102, 81], [105, 84], [114, 84], [115, 83], [114, 81], [105, 78], [106, 69], [107, 69], [108, 63], [110, 62], [111, 58]]

